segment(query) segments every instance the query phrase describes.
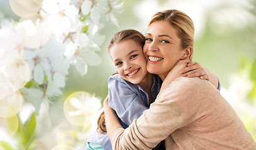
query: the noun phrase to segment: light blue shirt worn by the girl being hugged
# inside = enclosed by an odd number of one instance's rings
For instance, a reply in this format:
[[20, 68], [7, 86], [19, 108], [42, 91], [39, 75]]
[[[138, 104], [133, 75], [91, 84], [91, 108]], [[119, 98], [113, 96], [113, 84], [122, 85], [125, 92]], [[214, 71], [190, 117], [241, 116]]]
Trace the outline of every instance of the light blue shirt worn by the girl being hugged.
[[[151, 94], [153, 101], [159, 94], [162, 80], [156, 74], [152, 74]], [[149, 108], [148, 94], [138, 84], [132, 84], [114, 74], [108, 79], [109, 106], [116, 111], [120, 124], [127, 128], [134, 119], [142, 116], [143, 111]], [[99, 143], [102, 148], [112, 149], [108, 134], [95, 131], [87, 140], [87, 143]]]

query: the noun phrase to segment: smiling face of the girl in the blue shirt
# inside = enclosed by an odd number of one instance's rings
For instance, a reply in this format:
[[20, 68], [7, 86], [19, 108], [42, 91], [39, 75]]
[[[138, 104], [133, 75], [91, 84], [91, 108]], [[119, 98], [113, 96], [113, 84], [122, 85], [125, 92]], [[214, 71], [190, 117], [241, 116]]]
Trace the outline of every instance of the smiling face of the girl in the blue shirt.
[[133, 84], [138, 84], [147, 75], [146, 59], [142, 46], [132, 39], [114, 44], [109, 50], [114, 66], [121, 78]]

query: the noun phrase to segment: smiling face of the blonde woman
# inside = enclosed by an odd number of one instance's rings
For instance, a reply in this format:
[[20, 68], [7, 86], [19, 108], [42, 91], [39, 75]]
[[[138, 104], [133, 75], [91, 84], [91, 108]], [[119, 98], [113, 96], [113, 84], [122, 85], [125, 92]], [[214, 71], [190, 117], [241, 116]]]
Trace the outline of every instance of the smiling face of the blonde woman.
[[182, 58], [184, 50], [177, 31], [167, 21], [155, 21], [148, 26], [143, 51], [147, 59], [147, 71], [164, 79]]

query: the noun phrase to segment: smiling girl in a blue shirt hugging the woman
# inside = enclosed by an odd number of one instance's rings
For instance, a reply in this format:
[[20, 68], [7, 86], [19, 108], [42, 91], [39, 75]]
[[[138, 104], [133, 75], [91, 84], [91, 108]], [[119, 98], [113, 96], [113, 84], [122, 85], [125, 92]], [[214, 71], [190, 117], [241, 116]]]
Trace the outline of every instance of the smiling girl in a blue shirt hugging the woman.
[[[116, 111], [123, 128], [128, 128], [134, 119], [140, 117], [143, 111], [149, 108], [162, 85], [159, 76], [147, 71], [147, 62], [143, 54], [144, 43], [143, 34], [128, 29], [114, 34], [108, 46], [109, 54], [118, 72], [108, 81], [109, 106]], [[157, 61], [157, 59], [152, 61]], [[174, 79], [179, 76], [179, 71], [188, 63], [191, 63], [188, 59], [182, 60], [172, 69]], [[196, 73], [207, 74], [199, 64], [190, 65], [190, 68], [198, 69]], [[184, 73], [186, 72], [185, 69]], [[216, 77], [214, 76], [214, 78]], [[218, 79], [214, 84], [218, 84]], [[87, 149], [112, 149], [108, 134], [104, 129], [104, 113], [101, 114], [98, 125], [100, 125], [97, 129], [98, 132], [92, 134], [87, 140]], [[160, 146], [160, 144], [157, 145], [155, 149], [162, 149]]]

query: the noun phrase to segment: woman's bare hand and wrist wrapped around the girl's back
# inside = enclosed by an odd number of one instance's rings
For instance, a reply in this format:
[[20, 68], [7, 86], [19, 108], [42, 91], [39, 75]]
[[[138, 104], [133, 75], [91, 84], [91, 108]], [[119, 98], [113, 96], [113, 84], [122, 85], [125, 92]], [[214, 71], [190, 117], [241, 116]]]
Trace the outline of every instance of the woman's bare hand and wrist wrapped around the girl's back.
[[118, 121], [116, 112], [108, 104], [108, 96], [106, 97], [106, 99], [104, 99], [103, 107], [105, 113], [107, 133], [109, 139], [111, 140], [114, 131], [118, 128], [122, 128], [122, 126]]

